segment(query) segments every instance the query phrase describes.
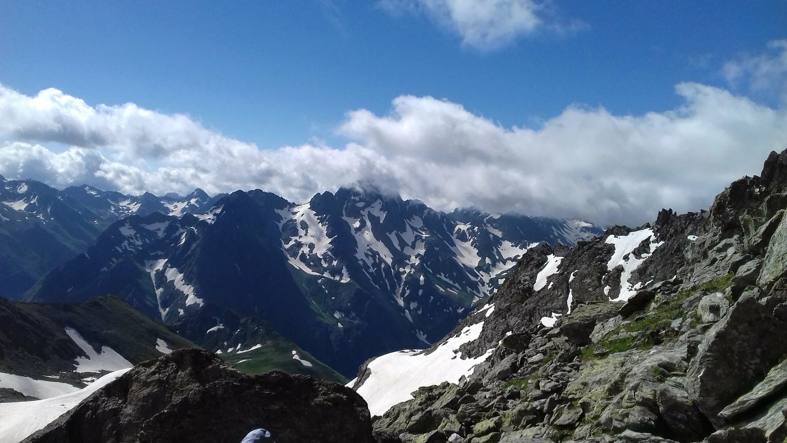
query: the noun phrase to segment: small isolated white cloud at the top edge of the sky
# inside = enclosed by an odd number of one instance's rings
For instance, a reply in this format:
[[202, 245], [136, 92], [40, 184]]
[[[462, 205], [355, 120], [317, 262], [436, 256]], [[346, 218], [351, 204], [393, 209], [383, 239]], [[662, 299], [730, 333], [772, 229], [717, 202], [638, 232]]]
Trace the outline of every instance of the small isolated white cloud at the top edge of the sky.
[[479, 50], [497, 49], [544, 28], [568, 32], [584, 27], [577, 20], [560, 22], [549, 2], [536, 0], [381, 0], [380, 5], [393, 13], [426, 14]]

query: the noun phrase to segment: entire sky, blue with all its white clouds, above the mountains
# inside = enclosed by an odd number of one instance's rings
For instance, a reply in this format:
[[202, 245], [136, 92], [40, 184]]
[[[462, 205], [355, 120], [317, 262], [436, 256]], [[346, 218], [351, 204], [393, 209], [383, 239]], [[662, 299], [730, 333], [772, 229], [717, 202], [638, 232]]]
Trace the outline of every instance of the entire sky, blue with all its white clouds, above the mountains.
[[641, 224], [787, 147], [785, 24], [783, 0], [0, 2], [0, 173]]

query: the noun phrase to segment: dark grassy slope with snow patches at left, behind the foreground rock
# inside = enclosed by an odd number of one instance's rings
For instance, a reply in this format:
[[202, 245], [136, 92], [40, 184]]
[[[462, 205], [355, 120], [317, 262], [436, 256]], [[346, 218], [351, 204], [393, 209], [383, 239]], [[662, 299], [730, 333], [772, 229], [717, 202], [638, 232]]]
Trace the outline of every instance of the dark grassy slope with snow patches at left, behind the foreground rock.
[[78, 304], [0, 299], [0, 388], [26, 396], [73, 392], [96, 374], [191, 347], [114, 296]]

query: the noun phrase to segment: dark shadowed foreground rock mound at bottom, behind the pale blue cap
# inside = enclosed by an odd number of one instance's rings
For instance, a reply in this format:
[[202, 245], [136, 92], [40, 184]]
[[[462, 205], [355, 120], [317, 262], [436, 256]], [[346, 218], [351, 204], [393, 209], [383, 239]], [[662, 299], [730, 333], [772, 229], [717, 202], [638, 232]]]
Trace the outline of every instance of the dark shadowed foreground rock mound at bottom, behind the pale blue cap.
[[140, 363], [25, 443], [241, 441], [264, 427], [279, 443], [373, 443], [352, 389], [274, 371], [248, 376], [198, 349]]

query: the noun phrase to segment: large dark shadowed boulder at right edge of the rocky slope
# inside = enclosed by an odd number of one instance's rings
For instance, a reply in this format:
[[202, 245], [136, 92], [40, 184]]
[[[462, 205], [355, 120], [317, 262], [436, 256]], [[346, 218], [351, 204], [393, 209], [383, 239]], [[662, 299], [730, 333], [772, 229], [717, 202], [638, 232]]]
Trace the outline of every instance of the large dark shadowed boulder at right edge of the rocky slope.
[[774, 317], [772, 307], [745, 294], [700, 344], [686, 388], [700, 411], [721, 426], [719, 412], [762, 380], [785, 352], [785, 322]]

